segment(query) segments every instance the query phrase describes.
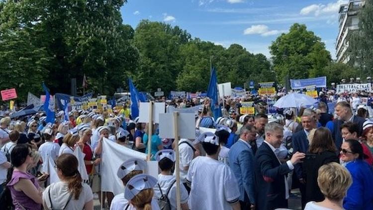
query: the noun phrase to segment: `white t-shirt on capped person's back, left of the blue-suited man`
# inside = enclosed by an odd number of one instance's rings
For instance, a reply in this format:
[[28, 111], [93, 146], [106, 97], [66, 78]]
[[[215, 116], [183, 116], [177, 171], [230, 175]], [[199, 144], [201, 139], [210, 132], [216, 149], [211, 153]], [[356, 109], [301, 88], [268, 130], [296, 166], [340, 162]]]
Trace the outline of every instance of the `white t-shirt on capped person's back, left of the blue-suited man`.
[[238, 202], [240, 197], [231, 169], [210, 157], [199, 156], [191, 162], [187, 181], [191, 183], [191, 210], [231, 210], [230, 203]]

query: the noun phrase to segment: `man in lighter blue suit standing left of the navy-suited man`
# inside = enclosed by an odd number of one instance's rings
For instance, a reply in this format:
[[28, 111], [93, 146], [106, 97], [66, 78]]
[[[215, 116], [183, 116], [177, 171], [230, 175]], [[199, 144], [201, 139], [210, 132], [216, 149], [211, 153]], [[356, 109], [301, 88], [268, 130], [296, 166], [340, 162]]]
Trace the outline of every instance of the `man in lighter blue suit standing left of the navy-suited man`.
[[255, 208], [254, 153], [250, 142], [255, 141], [256, 129], [245, 125], [240, 130], [240, 139], [229, 150], [229, 166], [240, 189], [242, 210]]

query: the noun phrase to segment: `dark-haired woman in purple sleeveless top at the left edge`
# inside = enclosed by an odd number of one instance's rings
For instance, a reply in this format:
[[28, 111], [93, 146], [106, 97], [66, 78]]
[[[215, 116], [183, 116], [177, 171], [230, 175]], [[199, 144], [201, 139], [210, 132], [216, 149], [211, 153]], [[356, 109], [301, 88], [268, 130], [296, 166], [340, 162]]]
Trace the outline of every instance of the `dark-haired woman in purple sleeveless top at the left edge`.
[[27, 172], [32, 165], [32, 151], [27, 144], [16, 145], [11, 152], [13, 167], [9, 169], [6, 186], [9, 188], [15, 210], [40, 210], [42, 189], [38, 180]]

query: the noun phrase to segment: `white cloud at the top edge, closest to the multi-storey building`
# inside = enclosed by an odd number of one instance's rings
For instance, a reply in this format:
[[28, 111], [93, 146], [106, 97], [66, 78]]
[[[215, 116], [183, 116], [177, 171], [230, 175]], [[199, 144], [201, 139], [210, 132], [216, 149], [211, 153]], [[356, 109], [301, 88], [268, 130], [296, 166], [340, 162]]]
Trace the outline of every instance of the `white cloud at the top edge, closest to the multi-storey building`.
[[328, 4], [311, 4], [300, 10], [301, 15], [314, 14], [315, 16], [338, 13], [341, 4], [348, 3], [348, 0], [337, 0]]

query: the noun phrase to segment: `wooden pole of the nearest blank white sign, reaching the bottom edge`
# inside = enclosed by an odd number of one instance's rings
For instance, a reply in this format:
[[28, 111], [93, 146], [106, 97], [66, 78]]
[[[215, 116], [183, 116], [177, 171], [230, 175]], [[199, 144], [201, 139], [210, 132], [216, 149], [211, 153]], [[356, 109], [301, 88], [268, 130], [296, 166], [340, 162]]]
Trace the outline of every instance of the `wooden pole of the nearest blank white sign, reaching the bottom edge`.
[[180, 166], [179, 166], [179, 124], [178, 124], [179, 112], [174, 112], [174, 133], [175, 133], [175, 170], [176, 170], [176, 207], [177, 210], [181, 210], [180, 201]]

